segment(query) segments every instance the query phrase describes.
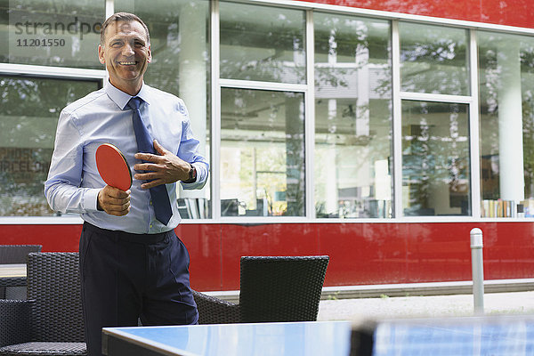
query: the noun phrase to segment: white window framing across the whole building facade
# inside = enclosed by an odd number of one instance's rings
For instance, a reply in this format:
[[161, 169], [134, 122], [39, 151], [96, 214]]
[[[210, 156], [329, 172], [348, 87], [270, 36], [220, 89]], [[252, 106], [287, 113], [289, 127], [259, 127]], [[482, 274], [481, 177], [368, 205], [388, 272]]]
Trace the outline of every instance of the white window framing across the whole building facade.
[[[287, 85], [271, 82], [255, 82], [246, 80], [223, 79], [220, 77], [220, 18], [219, 3], [223, 0], [210, 1], [210, 85], [211, 88], [211, 208], [212, 214], [206, 219], [184, 219], [182, 223], [447, 223], [447, 222], [503, 222], [503, 221], [532, 221], [532, 218], [481, 218], [481, 182], [480, 182], [480, 129], [479, 129], [479, 89], [478, 89], [478, 43], [477, 30], [502, 32], [516, 35], [534, 35], [534, 28], [516, 28], [512, 26], [481, 23], [467, 20], [452, 20], [443, 18], [433, 18], [420, 15], [411, 15], [396, 12], [384, 12], [352, 7], [342, 7], [332, 4], [316, 4], [288, 0], [231, 0], [235, 3], [257, 4], [262, 6], [274, 6], [278, 8], [291, 8], [305, 12], [305, 45], [306, 50], [306, 84]], [[104, 0], [106, 16], [114, 12], [114, 1]], [[314, 28], [313, 12], [328, 12], [340, 15], [354, 15], [358, 17], [369, 17], [372, 19], [389, 20], [391, 24], [392, 41], [392, 185], [393, 185], [393, 216], [392, 218], [317, 218], [315, 216], [313, 197], [313, 166], [314, 166]], [[447, 27], [464, 28], [469, 33], [469, 83], [470, 94], [463, 95], [443, 95], [427, 93], [409, 93], [401, 91], [400, 73], [400, 34], [399, 21], [412, 21], [416, 23], [441, 25]], [[0, 75], [6, 76], [28, 76], [44, 78], [66, 78], [70, 80], [103, 80], [107, 78], [104, 69], [76, 69], [66, 67], [47, 67], [25, 64], [0, 63]], [[226, 87], [240, 89], [263, 89], [271, 91], [293, 91], [304, 95], [304, 148], [305, 148], [305, 216], [303, 217], [222, 217], [221, 197], [219, 192], [220, 182], [220, 162], [219, 149], [221, 147], [221, 89]], [[470, 149], [470, 186], [471, 186], [471, 214], [468, 216], [402, 216], [402, 162], [401, 162], [401, 101], [442, 101], [458, 102], [469, 105], [469, 149]], [[69, 224], [81, 223], [79, 217], [26, 217], [26, 216], [0, 216], [0, 224]]]

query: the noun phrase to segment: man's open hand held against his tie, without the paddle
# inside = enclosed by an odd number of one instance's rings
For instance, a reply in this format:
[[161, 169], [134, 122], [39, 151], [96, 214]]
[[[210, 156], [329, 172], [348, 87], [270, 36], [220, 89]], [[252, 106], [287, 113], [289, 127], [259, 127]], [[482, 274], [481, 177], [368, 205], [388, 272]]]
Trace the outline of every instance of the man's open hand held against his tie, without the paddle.
[[150, 189], [160, 184], [187, 181], [189, 179], [189, 163], [178, 158], [171, 151], [166, 150], [156, 140], [154, 140], [154, 149], [159, 155], [136, 153], [134, 156], [137, 159], [146, 161], [146, 163], [134, 165], [136, 171], [146, 171], [146, 173], [134, 174], [134, 178], [142, 181], [150, 181], [142, 183], [142, 189]]

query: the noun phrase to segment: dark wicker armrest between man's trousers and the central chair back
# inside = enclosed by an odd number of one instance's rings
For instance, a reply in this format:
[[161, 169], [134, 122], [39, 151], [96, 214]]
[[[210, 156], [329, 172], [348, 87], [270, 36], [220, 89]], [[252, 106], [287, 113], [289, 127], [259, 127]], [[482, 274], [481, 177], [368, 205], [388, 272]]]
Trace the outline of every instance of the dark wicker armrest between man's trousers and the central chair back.
[[198, 324], [231, 324], [241, 320], [238, 304], [229, 303], [193, 290], [198, 308]]

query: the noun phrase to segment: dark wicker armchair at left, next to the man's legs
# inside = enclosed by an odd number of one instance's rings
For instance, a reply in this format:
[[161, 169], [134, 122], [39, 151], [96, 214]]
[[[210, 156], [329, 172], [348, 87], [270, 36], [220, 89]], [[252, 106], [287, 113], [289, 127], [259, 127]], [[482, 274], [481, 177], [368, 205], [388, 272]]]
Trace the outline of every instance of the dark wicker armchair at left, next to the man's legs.
[[28, 255], [28, 300], [0, 300], [0, 355], [86, 355], [77, 253]]

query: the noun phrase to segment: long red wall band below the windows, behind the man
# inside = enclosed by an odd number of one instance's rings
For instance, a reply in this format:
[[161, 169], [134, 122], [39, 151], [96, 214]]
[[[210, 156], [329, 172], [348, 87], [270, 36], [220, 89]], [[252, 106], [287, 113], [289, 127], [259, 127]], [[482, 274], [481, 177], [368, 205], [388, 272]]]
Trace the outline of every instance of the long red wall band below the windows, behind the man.
[[[242, 255], [329, 255], [327, 286], [471, 279], [469, 232], [481, 228], [485, 279], [534, 278], [534, 223], [182, 224], [191, 286], [239, 289]], [[2, 225], [0, 244], [77, 251], [81, 225]]]

